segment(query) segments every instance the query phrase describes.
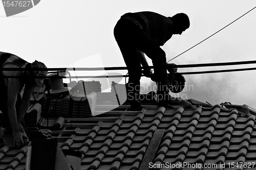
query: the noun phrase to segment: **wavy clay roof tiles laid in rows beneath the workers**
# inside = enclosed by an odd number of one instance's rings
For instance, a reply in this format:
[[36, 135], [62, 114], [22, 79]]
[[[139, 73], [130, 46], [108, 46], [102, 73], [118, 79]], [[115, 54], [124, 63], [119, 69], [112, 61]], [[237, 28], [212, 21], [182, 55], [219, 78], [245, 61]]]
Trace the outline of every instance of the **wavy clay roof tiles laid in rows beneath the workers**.
[[[222, 167], [212, 169], [252, 169], [245, 165], [256, 162], [254, 115], [241, 116], [220, 105], [187, 109], [144, 105], [142, 112], [129, 112], [127, 107], [121, 105], [92, 118], [51, 118], [48, 125], [58, 147], [82, 153], [81, 169], [139, 169], [148, 157], [146, 152], [154, 149], [152, 162], [159, 165], [217, 163]], [[40, 124], [46, 129], [46, 118]], [[151, 144], [158, 130], [164, 133], [154, 148]], [[25, 169], [27, 150], [28, 146], [0, 146], [0, 169]], [[231, 168], [237, 162], [243, 162], [242, 166]]]

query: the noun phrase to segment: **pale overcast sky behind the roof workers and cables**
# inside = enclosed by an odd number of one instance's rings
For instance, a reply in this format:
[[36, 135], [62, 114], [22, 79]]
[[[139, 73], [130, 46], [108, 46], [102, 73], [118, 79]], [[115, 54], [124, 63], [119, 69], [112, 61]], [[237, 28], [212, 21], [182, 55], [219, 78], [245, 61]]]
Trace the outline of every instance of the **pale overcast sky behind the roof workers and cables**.
[[[37, 59], [48, 68], [70, 67], [73, 63], [76, 63], [75, 67], [125, 66], [113, 35], [114, 26], [121, 15], [126, 12], [153, 11], [173, 16], [183, 12], [190, 18], [190, 28], [182, 35], [174, 35], [162, 47], [169, 60], [255, 6], [256, 2], [252, 0], [42, 0], [28, 11], [6, 17], [4, 7], [0, 5], [0, 51], [16, 54], [29, 62]], [[256, 9], [172, 62], [182, 65], [255, 60], [255, 15]], [[90, 56], [95, 56], [95, 59]], [[148, 62], [152, 65], [150, 59]], [[255, 65], [187, 68], [178, 71], [245, 67]], [[126, 74], [125, 71], [115, 72]], [[186, 85], [193, 88], [180, 95], [211, 104], [227, 101], [256, 108], [255, 73], [256, 71], [245, 71], [185, 75]], [[142, 78], [141, 82], [152, 83], [148, 78]]]

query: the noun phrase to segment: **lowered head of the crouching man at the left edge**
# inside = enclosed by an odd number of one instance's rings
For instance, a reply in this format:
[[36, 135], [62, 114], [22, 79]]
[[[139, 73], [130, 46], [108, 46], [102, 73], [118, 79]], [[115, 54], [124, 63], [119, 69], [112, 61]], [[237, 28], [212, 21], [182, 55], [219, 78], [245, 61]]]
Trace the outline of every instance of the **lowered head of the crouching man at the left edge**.
[[[42, 62], [39, 62], [35, 60], [34, 62], [31, 63], [31, 68], [38, 68], [38, 69], [47, 69], [46, 65]], [[34, 76], [47, 76], [48, 71], [40, 71], [40, 70], [35, 70], [33, 71]], [[42, 87], [43, 82], [45, 78], [35, 78], [35, 85]]]

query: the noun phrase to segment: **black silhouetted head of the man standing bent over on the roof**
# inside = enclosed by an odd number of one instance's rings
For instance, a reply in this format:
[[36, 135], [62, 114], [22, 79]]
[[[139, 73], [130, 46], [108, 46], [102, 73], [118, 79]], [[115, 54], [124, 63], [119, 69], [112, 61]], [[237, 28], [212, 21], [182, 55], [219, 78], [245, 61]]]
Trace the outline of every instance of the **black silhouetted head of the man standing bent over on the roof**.
[[178, 13], [172, 16], [174, 22], [174, 34], [182, 34], [183, 31], [189, 28], [189, 18], [184, 13]]

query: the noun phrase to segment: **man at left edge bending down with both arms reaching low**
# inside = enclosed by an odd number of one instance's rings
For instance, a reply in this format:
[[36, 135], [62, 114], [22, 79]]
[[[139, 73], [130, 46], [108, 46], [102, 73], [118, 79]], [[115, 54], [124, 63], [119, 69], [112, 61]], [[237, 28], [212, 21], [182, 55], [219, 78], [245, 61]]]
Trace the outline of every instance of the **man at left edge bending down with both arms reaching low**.
[[[29, 63], [24, 59], [10, 54], [0, 52], [0, 68], [47, 68], [44, 63], [34, 61]], [[24, 123], [24, 116], [29, 108], [30, 97], [35, 86], [42, 87], [44, 79], [29, 76], [47, 76], [48, 71], [3, 71], [0, 79], [0, 110], [8, 115], [13, 133], [14, 146], [21, 147], [23, 138], [28, 138], [29, 130]], [[19, 78], [8, 78], [4, 76], [19, 76]], [[24, 88], [23, 97], [20, 90]], [[1, 125], [1, 124], [0, 124]]]

